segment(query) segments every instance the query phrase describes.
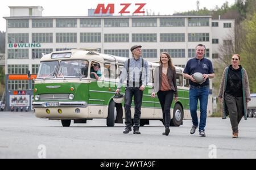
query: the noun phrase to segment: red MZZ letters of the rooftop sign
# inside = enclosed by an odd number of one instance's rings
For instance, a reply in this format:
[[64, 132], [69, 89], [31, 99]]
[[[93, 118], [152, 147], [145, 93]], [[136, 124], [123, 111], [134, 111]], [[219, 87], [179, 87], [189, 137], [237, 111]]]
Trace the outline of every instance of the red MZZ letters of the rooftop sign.
[[[119, 12], [119, 14], [130, 14], [130, 11], [127, 11], [127, 8], [131, 5], [131, 3], [121, 3], [121, 6], [123, 6], [122, 10]], [[137, 10], [133, 12], [133, 14], [144, 14], [145, 11], [141, 11], [142, 8], [146, 5], [146, 3], [135, 3], [136, 6], [138, 6]], [[114, 14], [115, 12], [115, 5], [114, 3], [109, 3], [106, 8], [103, 3], [98, 4], [94, 14], [100, 14], [100, 11], [102, 11], [102, 14], [107, 14], [108, 11], [110, 14]]]

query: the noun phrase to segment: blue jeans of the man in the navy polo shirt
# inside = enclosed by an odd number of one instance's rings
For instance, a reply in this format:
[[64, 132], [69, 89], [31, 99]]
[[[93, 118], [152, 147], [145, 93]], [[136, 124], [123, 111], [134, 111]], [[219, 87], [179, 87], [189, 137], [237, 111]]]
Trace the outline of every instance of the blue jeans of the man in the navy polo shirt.
[[189, 108], [192, 117], [193, 125], [198, 126], [198, 117], [197, 117], [197, 103], [198, 99], [200, 101], [200, 125], [199, 131], [203, 130], [207, 121], [207, 105], [208, 105], [208, 96], [209, 96], [209, 87], [201, 88], [190, 88], [189, 90]]

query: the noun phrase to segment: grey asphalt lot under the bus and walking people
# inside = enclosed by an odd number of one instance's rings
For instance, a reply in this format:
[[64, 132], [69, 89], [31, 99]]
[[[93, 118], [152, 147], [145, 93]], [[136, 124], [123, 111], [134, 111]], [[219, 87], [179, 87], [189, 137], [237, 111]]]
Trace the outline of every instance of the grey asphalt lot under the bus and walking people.
[[160, 121], [141, 127], [141, 135], [123, 134], [124, 126], [94, 119], [63, 128], [31, 112], [0, 112], [0, 158], [256, 158], [256, 118], [241, 121], [237, 139], [229, 118], [208, 118], [207, 137], [189, 134], [191, 120], [171, 127], [168, 136]]

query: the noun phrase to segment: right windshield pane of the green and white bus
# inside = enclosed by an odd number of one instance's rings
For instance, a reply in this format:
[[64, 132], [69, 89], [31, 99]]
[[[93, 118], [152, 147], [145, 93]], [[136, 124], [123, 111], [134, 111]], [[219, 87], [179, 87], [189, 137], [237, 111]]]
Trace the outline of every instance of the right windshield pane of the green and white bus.
[[57, 78], [82, 77], [88, 76], [88, 61], [84, 60], [65, 60], [60, 62]]

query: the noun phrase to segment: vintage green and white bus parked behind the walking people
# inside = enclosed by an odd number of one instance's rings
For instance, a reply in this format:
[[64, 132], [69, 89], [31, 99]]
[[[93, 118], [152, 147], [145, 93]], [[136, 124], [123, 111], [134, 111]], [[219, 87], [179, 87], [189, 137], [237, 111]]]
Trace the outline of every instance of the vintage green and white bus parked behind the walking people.
[[[106, 118], [107, 126], [122, 124], [125, 118], [123, 103], [113, 101], [124, 62], [127, 58], [101, 54], [93, 49], [75, 49], [53, 52], [40, 60], [35, 79], [35, 116], [49, 120], [61, 120], [64, 127], [74, 123], [86, 123], [93, 118]], [[91, 78], [94, 63], [100, 64], [101, 78]], [[148, 62], [151, 79], [158, 63]], [[179, 100], [172, 103], [171, 125], [180, 126], [183, 119], [190, 119], [188, 80], [183, 69], [176, 67]], [[149, 120], [162, 121], [162, 109], [158, 97], [151, 97], [152, 80], [143, 93], [141, 126]], [[121, 92], [125, 92], [122, 87]], [[132, 105], [131, 111], [134, 112]]]

